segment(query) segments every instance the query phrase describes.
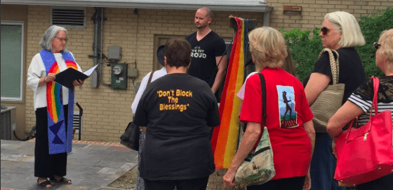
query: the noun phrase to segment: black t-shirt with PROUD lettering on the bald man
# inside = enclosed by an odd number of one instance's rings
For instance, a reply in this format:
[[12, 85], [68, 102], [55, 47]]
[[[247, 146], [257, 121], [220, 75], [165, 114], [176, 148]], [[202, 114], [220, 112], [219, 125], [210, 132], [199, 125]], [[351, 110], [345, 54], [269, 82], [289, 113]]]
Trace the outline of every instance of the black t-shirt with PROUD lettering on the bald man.
[[225, 55], [225, 42], [214, 31], [211, 31], [200, 41], [196, 40], [196, 32], [189, 34], [186, 40], [191, 45], [191, 65], [189, 75], [204, 80], [210, 87], [213, 86], [217, 75], [217, 61], [215, 57]]

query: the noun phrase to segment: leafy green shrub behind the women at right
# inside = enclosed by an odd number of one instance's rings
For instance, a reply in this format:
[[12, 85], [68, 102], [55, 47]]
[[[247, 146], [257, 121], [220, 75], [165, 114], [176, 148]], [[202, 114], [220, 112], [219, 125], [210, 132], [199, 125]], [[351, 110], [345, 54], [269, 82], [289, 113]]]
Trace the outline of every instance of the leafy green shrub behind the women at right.
[[[392, 28], [393, 8], [388, 7], [385, 10], [376, 10], [365, 17], [360, 17], [359, 26], [366, 40], [366, 44], [361, 47], [355, 47], [359, 57], [364, 65], [367, 77], [371, 75], [382, 76], [383, 73], [375, 66], [375, 50], [373, 43], [378, 41], [380, 33], [385, 29]], [[324, 48], [321, 45], [319, 29], [312, 31], [301, 31], [292, 29], [290, 31], [280, 30], [288, 42], [291, 50], [292, 59], [296, 64], [298, 78], [302, 81], [311, 73], [317, 62], [319, 52]]]

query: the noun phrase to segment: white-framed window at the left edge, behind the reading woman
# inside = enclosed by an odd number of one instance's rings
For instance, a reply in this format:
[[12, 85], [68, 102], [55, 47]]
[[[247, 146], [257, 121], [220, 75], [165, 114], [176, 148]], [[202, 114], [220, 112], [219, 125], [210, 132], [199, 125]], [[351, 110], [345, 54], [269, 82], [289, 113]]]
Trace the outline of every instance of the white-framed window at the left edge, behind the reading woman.
[[23, 22], [1, 22], [1, 101], [22, 101]]

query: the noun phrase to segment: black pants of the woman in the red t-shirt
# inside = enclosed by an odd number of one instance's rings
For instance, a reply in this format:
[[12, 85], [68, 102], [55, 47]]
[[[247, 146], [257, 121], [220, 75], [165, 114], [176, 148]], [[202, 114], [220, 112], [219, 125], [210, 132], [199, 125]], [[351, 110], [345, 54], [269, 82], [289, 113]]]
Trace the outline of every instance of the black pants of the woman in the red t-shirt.
[[247, 190], [302, 190], [305, 184], [305, 176], [290, 177], [279, 180], [270, 180], [265, 184], [251, 185]]

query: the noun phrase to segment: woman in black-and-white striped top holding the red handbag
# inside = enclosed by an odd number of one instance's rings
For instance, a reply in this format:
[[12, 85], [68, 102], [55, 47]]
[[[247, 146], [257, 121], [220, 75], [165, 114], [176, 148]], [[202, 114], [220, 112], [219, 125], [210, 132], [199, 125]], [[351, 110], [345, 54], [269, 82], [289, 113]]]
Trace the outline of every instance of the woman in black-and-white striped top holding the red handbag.
[[[380, 78], [378, 88], [378, 112], [386, 110], [393, 112], [393, 29], [382, 31], [380, 40], [374, 43], [374, 47], [376, 50], [375, 65], [385, 74], [385, 77]], [[359, 116], [358, 126], [363, 126], [368, 122], [373, 94], [373, 80], [368, 79], [349, 96], [348, 101], [329, 119], [327, 129], [333, 139], [342, 133], [345, 124], [357, 116]], [[373, 115], [375, 115], [374, 112]], [[335, 142], [333, 141], [334, 151]], [[359, 184], [356, 189], [393, 189], [393, 174]]]

